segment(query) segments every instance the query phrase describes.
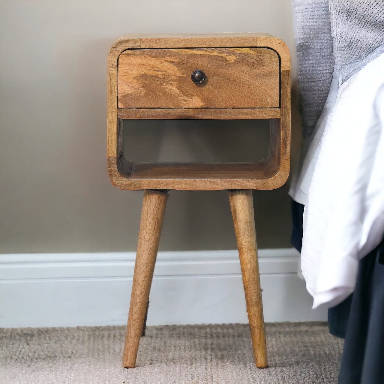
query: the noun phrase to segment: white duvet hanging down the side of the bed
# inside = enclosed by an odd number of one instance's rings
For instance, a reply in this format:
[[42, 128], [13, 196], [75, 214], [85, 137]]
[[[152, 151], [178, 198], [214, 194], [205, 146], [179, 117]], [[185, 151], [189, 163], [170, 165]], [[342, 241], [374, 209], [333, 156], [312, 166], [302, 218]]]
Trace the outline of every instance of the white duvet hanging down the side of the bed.
[[384, 54], [336, 80], [290, 190], [305, 205], [301, 271], [313, 308], [353, 292], [359, 260], [384, 233]]

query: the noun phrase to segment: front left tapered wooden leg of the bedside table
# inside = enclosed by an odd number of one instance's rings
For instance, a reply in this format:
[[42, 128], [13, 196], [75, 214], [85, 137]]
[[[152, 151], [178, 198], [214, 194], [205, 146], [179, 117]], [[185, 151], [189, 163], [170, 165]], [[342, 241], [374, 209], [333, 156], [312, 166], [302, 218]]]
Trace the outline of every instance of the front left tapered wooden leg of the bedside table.
[[126, 368], [134, 368], [136, 365], [137, 349], [147, 311], [167, 197], [166, 191], [150, 189], [144, 191], [124, 346], [123, 366]]

